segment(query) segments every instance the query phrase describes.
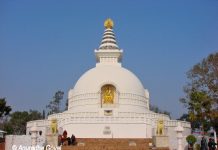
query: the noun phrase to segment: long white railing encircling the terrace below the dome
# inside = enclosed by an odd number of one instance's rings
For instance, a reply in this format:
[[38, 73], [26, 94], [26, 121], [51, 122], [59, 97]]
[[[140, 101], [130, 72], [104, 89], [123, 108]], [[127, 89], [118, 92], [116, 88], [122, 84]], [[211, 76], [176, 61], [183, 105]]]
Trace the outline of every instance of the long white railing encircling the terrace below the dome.
[[[150, 117], [148, 117], [150, 116]], [[166, 117], [162, 115], [162, 117]], [[30, 128], [37, 124], [38, 127], [49, 126], [50, 119], [58, 119], [59, 126], [64, 126], [66, 124], [76, 124], [76, 123], [143, 123], [149, 125], [156, 125], [157, 120], [160, 118], [158, 115], [151, 115], [149, 113], [130, 113], [122, 112], [118, 116], [98, 116], [97, 112], [84, 112], [84, 113], [63, 113], [50, 115], [48, 120], [35, 120], [29, 121], [27, 123], [27, 128]], [[167, 118], [168, 119], [168, 118]], [[166, 127], [176, 127], [178, 122], [181, 122], [182, 126], [185, 128], [190, 128], [190, 123], [179, 120], [164, 120]]]

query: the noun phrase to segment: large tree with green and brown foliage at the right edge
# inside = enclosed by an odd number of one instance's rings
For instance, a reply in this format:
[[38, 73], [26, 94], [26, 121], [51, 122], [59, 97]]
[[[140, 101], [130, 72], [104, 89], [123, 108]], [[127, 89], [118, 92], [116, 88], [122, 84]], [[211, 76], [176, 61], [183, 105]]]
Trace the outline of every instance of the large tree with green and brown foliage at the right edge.
[[210, 54], [187, 72], [186, 97], [180, 99], [191, 122], [218, 127], [218, 53]]

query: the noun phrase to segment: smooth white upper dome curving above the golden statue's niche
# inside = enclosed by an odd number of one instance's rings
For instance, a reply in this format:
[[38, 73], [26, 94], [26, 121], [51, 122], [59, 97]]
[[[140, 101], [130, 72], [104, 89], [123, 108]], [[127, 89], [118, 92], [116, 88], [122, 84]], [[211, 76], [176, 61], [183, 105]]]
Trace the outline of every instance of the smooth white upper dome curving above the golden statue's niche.
[[116, 65], [102, 65], [88, 70], [77, 81], [74, 92], [97, 93], [106, 84], [113, 85], [120, 93], [145, 94], [140, 80], [131, 71]]

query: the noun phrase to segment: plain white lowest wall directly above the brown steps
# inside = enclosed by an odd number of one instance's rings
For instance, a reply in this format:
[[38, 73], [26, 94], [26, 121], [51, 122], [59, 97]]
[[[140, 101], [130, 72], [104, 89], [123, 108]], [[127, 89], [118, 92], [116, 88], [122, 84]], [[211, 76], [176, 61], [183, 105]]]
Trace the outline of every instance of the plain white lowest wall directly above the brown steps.
[[[146, 124], [66, 124], [68, 136], [79, 138], [145, 138]], [[104, 131], [108, 134], [104, 134]]]

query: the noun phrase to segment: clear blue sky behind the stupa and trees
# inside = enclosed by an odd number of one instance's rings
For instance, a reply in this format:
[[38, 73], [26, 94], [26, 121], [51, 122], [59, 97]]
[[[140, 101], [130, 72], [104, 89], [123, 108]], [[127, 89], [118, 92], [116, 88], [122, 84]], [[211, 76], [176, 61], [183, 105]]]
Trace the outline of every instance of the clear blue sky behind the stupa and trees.
[[150, 102], [179, 117], [186, 72], [218, 51], [218, 0], [0, 1], [0, 97], [13, 110], [42, 111], [55, 91], [95, 66], [106, 18], [123, 66]]

